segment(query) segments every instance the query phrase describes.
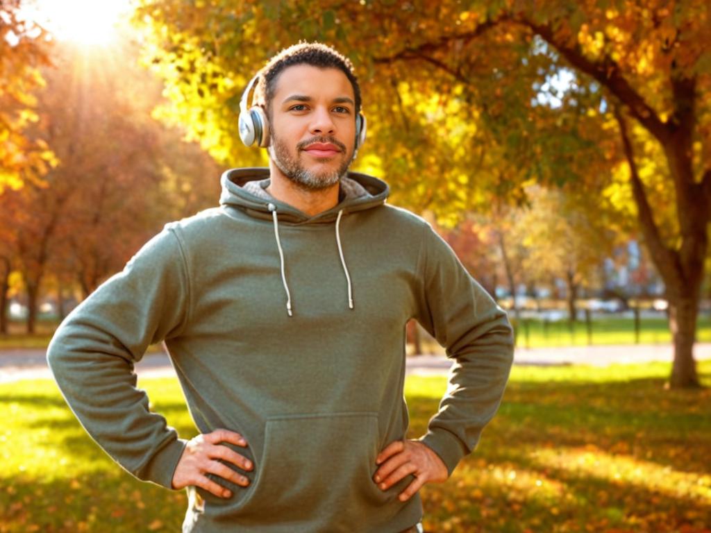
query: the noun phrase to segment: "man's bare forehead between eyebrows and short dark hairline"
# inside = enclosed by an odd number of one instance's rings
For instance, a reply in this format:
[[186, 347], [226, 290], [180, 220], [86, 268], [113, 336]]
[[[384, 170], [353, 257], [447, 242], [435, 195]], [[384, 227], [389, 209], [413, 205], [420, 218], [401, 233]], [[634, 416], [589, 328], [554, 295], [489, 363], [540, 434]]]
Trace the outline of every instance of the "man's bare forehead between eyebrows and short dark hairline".
[[319, 68], [314, 65], [292, 65], [277, 77], [274, 87], [274, 103], [281, 104], [284, 98], [294, 93], [314, 99], [338, 97], [355, 98], [353, 85], [348, 76], [338, 68]]

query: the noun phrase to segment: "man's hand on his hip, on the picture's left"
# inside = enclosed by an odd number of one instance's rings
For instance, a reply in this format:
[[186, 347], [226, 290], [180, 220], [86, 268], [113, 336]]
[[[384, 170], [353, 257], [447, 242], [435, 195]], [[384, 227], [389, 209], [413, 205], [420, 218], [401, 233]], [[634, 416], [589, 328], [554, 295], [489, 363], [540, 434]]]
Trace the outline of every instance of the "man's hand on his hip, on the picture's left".
[[188, 441], [176, 466], [176, 471], [173, 474], [173, 488], [181, 489], [188, 485], [196, 485], [215, 496], [230, 497], [232, 492], [208, 478], [208, 473], [219, 475], [221, 478], [232, 481], [235, 485], [241, 485], [242, 487], [249, 485], [250, 480], [227, 465], [220, 463], [218, 459], [237, 465], [242, 470], [252, 470], [252, 462], [240, 456], [239, 453], [232, 451], [228, 446], [221, 446], [220, 442], [229, 442], [242, 447], [247, 446], [247, 441], [245, 441], [244, 437], [227, 429], [215, 429], [212, 433], [192, 438]]

